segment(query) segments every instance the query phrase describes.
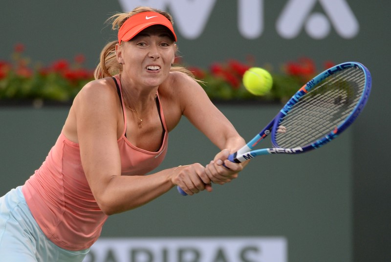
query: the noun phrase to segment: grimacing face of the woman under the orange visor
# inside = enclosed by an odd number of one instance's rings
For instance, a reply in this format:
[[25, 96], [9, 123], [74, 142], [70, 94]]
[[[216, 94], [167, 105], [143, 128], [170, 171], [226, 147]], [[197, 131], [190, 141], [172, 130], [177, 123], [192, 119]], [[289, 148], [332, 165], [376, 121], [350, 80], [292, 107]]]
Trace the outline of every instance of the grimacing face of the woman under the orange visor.
[[122, 75], [142, 86], [159, 86], [170, 73], [176, 45], [168, 28], [147, 27], [130, 41], [116, 47]]

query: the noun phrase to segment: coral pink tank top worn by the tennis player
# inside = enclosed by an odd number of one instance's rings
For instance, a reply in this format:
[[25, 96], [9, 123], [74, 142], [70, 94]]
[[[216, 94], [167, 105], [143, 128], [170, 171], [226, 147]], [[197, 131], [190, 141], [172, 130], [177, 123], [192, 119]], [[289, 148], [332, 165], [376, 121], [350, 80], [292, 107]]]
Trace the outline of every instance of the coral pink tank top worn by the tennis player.
[[[119, 78], [117, 88], [122, 91]], [[157, 96], [157, 100], [158, 100]], [[124, 119], [126, 111], [123, 107]], [[122, 175], [143, 175], [156, 168], [167, 152], [168, 131], [163, 110], [159, 107], [164, 127], [162, 145], [157, 152], [133, 146], [125, 137], [127, 124], [118, 139]], [[79, 144], [60, 134], [39, 170], [22, 188], [31, 213], [48, 239], [61, 248], [83, 250], [100, 236], [107, 216], [100, 210], [84, 174]]]

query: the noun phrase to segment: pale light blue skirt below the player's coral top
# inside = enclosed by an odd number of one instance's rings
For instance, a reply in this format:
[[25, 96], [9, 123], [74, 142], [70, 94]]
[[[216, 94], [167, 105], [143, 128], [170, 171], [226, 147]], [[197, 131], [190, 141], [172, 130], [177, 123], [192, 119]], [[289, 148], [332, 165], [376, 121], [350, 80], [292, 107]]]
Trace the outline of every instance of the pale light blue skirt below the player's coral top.
[[89, 249], [69, 251], [48, 240], [31, 215], [22, 186], [0, 198], [0, 260], [82, 262]]

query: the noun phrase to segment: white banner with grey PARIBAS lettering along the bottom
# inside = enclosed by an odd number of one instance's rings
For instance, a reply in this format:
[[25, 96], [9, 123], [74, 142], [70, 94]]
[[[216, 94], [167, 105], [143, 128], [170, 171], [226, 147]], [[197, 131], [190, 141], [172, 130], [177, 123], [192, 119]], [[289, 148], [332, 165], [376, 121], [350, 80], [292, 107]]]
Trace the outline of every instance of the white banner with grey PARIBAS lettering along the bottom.
[[101, 238], [83, 262], [287, 262], [283, 237]]

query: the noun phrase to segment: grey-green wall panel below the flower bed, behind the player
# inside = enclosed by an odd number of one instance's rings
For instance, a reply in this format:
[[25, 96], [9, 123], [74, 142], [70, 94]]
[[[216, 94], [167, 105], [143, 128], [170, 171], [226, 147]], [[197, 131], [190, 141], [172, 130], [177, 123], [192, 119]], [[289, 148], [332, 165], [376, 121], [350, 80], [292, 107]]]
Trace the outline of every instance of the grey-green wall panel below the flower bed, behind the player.
[[[219, 108], [246, 138], [280, 109]], [[57, 139], [67, 109], [0, 109], [1, 195], [39, 167]], [[245, 122], [243, 115], [258, 120]], [[158, 170], [208, 163], [217, 153], [185, 118], [169, 137], [168, 154]], [[212, 194], [183, 197], [173, 189], [137, 210], [111, 216], [102, 237], [282, 236], [288, 241], [289, 261], [351, 261], [352, 132], [337, 141], [311, 153], [253, 160], [239, 179], [215, 185]]]

